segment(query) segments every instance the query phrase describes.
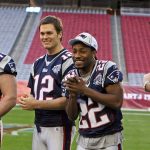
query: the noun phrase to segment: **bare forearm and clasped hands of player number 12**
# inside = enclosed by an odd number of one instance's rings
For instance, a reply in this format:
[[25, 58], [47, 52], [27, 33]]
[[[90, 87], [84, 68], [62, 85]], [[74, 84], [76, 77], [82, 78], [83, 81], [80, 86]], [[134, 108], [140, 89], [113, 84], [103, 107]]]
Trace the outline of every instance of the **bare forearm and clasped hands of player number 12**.
[[36, 100], [32, 95], [25, 95], [19, 99], [20, 106], [24, 110], [64, 110], [66, 105], [66, 98], [59, 97], [52, 100]]

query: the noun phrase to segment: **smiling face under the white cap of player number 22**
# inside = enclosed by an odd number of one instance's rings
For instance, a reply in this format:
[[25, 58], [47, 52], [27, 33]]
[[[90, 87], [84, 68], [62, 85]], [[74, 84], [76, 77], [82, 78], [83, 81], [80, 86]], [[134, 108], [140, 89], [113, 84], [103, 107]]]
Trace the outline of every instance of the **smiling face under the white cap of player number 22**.
[[72, 46], [73, 60], [77, 69], [82, 69], [86, 72], [90, 71], [95, 64], [96, 51], [87, 47], [83, 43], [76, 43]]

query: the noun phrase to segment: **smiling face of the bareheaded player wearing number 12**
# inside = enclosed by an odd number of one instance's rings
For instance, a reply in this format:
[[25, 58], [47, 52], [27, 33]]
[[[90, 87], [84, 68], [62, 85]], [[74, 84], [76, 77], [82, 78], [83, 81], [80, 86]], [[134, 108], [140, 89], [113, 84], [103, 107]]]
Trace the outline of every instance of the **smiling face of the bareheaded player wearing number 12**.
[[49, 53], [55, 53], [61, 46], [62, 32], [57, 33], [53, 24], [40, 26], [40, 39], [42, 45]]

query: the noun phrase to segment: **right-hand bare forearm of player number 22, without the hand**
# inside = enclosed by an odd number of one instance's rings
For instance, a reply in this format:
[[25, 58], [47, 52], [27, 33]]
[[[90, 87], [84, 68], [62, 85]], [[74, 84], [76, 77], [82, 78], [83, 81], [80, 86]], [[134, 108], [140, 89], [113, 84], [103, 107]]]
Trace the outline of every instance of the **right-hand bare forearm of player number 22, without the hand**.
[[[121, 92], [123, 93], [123, 91]], [[120, 93], [120, 95], [123, 95], [122, 93]], [[118, 97], [115, 94], [100, 93], [91, 88], [85, 88], [83, 94], [87, 97], [90, 97], [92, 100], [106, 105], [108, 107], [111, 107], [113, 109], [120, 108], [122, 105], [123, 97]]]

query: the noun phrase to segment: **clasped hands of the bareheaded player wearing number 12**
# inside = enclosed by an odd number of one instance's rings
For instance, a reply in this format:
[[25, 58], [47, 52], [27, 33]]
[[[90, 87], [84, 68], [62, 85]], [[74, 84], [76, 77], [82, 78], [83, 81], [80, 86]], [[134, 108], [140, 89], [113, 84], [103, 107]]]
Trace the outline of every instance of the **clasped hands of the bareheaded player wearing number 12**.
[[34, 110], [37, 105], [37, 100], [33, 96], [24, 95], [19, 99], [20, 106], [24, 110]]

